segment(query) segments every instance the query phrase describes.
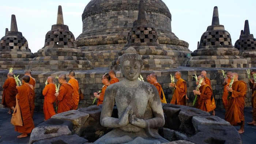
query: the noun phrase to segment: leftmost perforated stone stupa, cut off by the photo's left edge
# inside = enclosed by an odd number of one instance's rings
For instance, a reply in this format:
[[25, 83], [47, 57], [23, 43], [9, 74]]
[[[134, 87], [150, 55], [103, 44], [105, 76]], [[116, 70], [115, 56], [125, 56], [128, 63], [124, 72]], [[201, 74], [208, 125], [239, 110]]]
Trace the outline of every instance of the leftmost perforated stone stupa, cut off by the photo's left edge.
[[34, 57], [27, 40], [18, 31], [15, 15], [12, 15], [11, 30], [8, 31], [6, 28], [5, 36], [0, 40], [0, 69], [11, 67], [16, 70], [25, 69], [25, 65], [28, 65]]

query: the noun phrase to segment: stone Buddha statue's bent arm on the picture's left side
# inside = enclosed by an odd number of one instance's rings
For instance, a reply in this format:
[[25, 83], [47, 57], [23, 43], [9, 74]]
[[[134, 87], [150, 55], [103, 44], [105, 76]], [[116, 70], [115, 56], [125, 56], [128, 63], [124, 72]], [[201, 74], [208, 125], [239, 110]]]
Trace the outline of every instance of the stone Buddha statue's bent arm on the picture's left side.
[[129, 123], [129, 111], [131, 108], [127, 108], [120, 118], [111, 117], [114, 106], [114, 93], [111, 89], [106, 89], [103, 106], [101, 110], [101, 125], [107, 128], [124, 127]]

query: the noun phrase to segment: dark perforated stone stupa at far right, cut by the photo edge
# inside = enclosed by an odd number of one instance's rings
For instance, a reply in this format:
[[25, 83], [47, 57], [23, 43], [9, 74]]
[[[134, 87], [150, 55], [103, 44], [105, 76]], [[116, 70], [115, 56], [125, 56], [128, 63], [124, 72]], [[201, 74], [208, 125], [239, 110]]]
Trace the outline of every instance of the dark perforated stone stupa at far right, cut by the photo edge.
[[256, 67], [256, 39], [250, 34], [249, 22], [245, 20], [244, 30], [235, 43], [235, 48], [242, 52], [242, 57], [247, 58], [252, 67]]

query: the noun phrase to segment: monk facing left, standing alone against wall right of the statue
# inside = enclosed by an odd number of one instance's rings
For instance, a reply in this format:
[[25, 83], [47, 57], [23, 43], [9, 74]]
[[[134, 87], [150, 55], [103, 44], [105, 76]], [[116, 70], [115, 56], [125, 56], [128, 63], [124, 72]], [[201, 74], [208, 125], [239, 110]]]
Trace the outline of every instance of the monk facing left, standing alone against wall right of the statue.
[[187, 82], [181, 78], [180, 71], [177, 71], [174, 76], [177, 79], [177, 83], [170, 83], [170, 86], [175, 88], [172, 101], [170, 103], [175, 105], [186, 105]]

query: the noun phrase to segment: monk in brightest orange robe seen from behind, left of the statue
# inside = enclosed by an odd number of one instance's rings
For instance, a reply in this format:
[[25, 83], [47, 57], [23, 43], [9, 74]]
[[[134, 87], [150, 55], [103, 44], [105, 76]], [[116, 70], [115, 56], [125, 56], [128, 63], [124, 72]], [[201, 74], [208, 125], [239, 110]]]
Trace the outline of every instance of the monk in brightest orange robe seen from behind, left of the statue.
[[79, 103], [79, 83], [78, 83], [78, 80], [75, 79], [74, 71], [69, 71], [68, 77], [69, 77], [68, 83], [70, 83], [74, 89], [74, 93], [72, 96], [73, 110], [76, 110], [78, 108], [78, 103]]

